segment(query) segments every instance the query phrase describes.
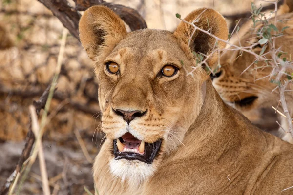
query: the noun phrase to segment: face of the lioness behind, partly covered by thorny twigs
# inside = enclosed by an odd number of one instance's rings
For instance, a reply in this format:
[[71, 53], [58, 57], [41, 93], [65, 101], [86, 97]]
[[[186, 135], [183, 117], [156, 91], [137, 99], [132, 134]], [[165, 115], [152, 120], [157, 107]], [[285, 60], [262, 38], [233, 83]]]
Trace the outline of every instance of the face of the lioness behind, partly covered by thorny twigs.
[[[291, 17], [292, 14], [287, 14], [280, 16], [279, 19], [284, 20]], [[273, 20], [270, 20], [270, 22], [273, 23]], [[275, 48], [279, 48], [279, 51], [287, 51], [286, 54], [282, 54], [281, 59], [286, 57], [290, 60], [292, 58], [291, 53], [288, 52], [292, 50], [293, 45], [292, 24], [291, 20], [277, 23], [277, 28], [280, 31], [285, 26], [289, 27], [283, 31], [283, 36], [276, 38]], [[259, 40], [256, 32], [262, 27], [262, 25], [258, 25], [255, 28], [251, 27], [239, 38], [240, 40], [234, 40], [234, 44], [243, 47], [255, 44], [256, 46], [252, 48], [253, 53], [260, 54], [262, 52], [265, 58], [272, 59], [270, 47], [267, 46], [262, 51], [264, 45], [257, 44]], [[255, 113], [261, 118], [263, 109], [268, 108], [266, 113], [268, 110], [274, 112], [272, 106], [277, 107], [280, 94], [279, 89], [276, 89], [277, 83], [274, 83], [277, 71], [274, 74], [272, 73], [274, 70], [272, 65], [262, 60], [258, 60], [255, 63], [255, 60], [255, 56], [247, 52], [240, 52], [239, 50], [225, 51], [220, 59], [222, 67], [211, 78], [215, 89], [226, 103], [241, 111], [251, 121], [258, 123], [257, 118], [259, 117], [255, 117]], [[287, 78], [282, 76], [281, 79]], [[285, 96], [290, 99], [290, 94], [292, 93], [286, 93]]]

